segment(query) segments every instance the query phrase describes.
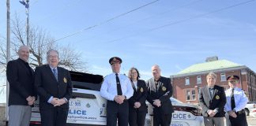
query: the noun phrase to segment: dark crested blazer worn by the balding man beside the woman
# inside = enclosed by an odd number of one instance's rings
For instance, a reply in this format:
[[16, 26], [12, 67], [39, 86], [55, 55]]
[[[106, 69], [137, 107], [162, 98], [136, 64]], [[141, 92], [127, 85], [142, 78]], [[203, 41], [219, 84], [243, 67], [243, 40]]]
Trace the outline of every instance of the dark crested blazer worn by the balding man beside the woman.
[[[164, 76], [160, 76], [160, 80], [158, 82], [159, 88], [157, 89], [154, 78], [151, 78], [147, 82], [148, 86], [148, 97], [147, 100], [153, 105], [153, 100], [160, 99], [161, 106], [159, 107], [160, 112], [164, 114], [171, 114], [174, 112], [171, 105], [171, 95], [173, 92], [172, 86], [171, 86], [171, 80], [169, 78], [166, 78]], [[158, 108], [157, 106], [154, 106], [155, 108]]]

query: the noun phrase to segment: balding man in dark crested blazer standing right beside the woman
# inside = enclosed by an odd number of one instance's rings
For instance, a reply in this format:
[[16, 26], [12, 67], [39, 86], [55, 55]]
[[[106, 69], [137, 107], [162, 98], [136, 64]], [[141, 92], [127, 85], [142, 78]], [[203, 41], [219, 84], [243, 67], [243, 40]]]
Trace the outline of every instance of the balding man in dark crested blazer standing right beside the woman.
[[171, 105], [172, 86], [171, 80], [164, 76], [160, 76], [159, 65], [152, 66], [153, 77], [148, 80], [148, 97], [147, 100], [153, 108], [153, 125], [169, 126], [174, 110]]

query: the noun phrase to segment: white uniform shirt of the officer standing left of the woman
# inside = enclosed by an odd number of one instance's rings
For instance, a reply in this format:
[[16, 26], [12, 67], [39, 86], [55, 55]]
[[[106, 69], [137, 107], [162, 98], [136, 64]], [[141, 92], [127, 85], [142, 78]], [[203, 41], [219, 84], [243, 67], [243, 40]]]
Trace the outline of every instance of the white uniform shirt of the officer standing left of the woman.
[[[122, 95], [125, 95], [126, 99], [129, 99], [134, 95], [134, 89], [131, 85], [130, 79], [125, 75], [119, 74], [119, 80]], [[104, 82], [100, 88], [100, 95], [109, 101], [114, 101], [115, 96], [118, 95], [114, 72], [104, 78]]]

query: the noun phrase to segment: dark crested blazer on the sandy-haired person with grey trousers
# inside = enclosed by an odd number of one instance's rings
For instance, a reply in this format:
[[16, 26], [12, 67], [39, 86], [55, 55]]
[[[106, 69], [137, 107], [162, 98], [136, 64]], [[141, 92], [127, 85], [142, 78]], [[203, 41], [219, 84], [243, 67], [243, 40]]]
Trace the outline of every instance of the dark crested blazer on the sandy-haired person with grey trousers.
[[217, 109], [218, 113], [214, 117], [224, 117], [224, 106], [226, 104], [226, 95], [224, 92], [224, 87], [214, 85], [213, 87], [213, 98], [209, 94], [209, 87], [201, 87], [199, 93], [199, 103], [202, 108], [202, 115], [204, 117], [209, 117], [207, 111], [209, 109]]

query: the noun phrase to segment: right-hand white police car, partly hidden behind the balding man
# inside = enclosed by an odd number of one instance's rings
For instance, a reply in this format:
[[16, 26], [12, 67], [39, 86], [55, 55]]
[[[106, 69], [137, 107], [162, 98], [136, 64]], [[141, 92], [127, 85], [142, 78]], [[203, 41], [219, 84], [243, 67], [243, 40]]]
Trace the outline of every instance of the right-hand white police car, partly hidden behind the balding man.
[[[201, 108], [192, 104], [180, 102], [170, 98], [175, 113], [172, 113], [171, 126], [204, 126], [204, 118], [201, 116]], [[149, 113], [146, 116], [145, 125], [152, 123], [152, 106], [148, 103]]]

